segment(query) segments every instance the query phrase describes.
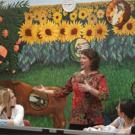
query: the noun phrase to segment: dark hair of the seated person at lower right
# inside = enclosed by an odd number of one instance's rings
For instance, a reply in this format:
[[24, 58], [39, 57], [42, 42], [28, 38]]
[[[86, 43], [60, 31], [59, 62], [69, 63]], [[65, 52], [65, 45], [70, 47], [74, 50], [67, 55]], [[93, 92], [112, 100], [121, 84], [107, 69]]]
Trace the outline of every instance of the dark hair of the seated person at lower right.
[[135, 100], [123, 100], [119, 103], [119, 105], [120, 112], [124, 112], [124, 114], [130, 119], [135, 117]]

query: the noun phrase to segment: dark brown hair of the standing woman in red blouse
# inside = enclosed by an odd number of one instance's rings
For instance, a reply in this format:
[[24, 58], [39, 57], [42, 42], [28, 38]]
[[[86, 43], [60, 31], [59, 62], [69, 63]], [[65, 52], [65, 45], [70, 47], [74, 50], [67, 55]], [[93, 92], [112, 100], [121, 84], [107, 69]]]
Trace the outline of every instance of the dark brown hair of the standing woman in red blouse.
[[98, 70], [99, 69], [99, 64], [100, 64], [100, 57], [98, 55], [98, 53], [89, 48], [89, 49], [84, 49], [81, 51], [81, 54], [87, 56], [89, 58], [89, 60], [92, 60], [91, 63], [91, 70]]

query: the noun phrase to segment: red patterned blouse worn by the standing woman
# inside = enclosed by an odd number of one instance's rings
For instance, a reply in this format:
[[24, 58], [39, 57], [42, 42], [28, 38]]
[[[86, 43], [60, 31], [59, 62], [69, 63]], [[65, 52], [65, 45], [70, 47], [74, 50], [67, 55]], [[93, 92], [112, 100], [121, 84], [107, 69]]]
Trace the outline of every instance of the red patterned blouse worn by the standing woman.
[[[99, 97], [93, 96], [90, 92], [79, 91], [78, 83], [83, 83], [84, 80], [100, 92]], [[103, 124], [102, 100], [107, 99], [109, 95], [104, 75], [99, 72], [91, 72], [88, 75], [77, 72], [68, 80], [63, 91], [57, 96], [63, 97], [70, 92], [73, 92], [70, 124]]]

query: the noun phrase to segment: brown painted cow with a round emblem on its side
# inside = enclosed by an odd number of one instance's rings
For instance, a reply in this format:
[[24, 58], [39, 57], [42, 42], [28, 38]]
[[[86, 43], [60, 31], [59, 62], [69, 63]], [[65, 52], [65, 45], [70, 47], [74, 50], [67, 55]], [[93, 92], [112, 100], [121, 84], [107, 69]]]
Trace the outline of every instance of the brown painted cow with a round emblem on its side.
[[[25, 109], [25, 114], [36, 116], [52, 115], [54, 127], [65, 128], [65, 97], [57, 98], [45, 92], [33, 90], [33, 86], [21, 81], [0, 80], [0, 86], [11, 88], [14, 91], [18, 104], [23, 105]], [[62, 90], [60, 87], [47, 87], [47, 89]]]

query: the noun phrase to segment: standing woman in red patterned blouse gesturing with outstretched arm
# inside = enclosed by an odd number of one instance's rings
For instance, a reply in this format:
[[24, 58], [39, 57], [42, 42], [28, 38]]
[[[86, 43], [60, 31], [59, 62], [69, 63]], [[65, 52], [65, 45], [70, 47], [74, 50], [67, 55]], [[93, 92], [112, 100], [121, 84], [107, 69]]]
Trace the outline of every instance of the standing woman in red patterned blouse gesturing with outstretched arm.
[[[73, 92], [70, 129], [82, 130], [85, 127], [103, 124], [102, 100], [108, 97], [105, 76], [99, 69], [100, 57], [93, 49], [82, 50], [80, 56], [81, 71], [75, 73], [63, 91], [54, 93], [63, 97]], [[44, 87], [34, 90], [47, 91]]]

